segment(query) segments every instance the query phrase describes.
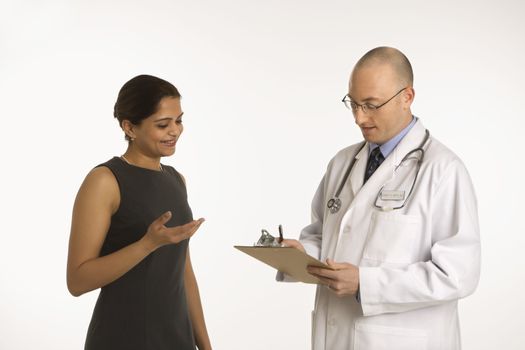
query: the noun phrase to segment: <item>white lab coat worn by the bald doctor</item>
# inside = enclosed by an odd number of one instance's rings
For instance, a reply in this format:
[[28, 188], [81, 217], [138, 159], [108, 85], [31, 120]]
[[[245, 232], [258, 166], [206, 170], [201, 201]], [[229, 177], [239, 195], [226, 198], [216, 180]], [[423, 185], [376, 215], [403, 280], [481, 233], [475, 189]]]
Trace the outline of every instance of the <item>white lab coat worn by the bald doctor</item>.
[[[324, 261], [359, 266], [360, 302], [319, 285], [312, 312], [314, 350], [456, 350], [461, 348], [458, 299], [471, 294], [480, 273], [477, 204], [461, 160], [432, 136], [411, 197], [402, 209], [378, 204], [381, 187], [410, 191], [416, 161], [402, 158], [417, 148], [425, 128], [410, 132], [363, 185], [368, 145], [340, 151], [329, 163], [312, 202], [312, 224], [300, 241]], [[332, 214], [327, 202], [356, 162]], [[416, 153], [417, 155], [417, 153]], [[416, 157], [417, 158], [417, 157]]]

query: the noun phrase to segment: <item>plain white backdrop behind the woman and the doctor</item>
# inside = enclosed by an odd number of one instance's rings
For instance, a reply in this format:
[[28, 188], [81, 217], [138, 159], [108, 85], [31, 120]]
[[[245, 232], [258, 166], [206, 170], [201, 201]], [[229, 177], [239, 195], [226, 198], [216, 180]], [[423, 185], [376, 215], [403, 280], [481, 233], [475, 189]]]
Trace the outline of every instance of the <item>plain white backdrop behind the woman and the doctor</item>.
[[477, 190], [464, 348], [523, 349], [524, 14], [521, 0], [2, 0], [0, 348], [83, 347], [98, 292], [67, 292], [72, 204], [124, 152], [113, 104], [141, 73], [183, 95], [186, 130], [164, 162], [207, 219], [191, 250], [215, 349], [309, 348], [314, 287], [276, 283], [232, 246], [309, 222], [327, 162], [361, 139], [340, 102], [351, 68], [389, 45], [413, 64], [414, 113]]

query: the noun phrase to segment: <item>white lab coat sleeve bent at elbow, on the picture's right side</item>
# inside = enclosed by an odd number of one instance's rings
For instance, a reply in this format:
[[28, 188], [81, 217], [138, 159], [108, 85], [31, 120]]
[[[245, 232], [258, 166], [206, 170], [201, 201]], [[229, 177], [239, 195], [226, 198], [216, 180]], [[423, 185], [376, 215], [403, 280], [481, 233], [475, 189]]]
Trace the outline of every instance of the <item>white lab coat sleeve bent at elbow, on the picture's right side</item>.
[[399, 268], [360, 267], [360, 297], [365, 316], [457, 300], [477, 287], [481, 260], [477, 203], [461, 161], [448, 165], [431, 201], [433, 244], [428, 261]]

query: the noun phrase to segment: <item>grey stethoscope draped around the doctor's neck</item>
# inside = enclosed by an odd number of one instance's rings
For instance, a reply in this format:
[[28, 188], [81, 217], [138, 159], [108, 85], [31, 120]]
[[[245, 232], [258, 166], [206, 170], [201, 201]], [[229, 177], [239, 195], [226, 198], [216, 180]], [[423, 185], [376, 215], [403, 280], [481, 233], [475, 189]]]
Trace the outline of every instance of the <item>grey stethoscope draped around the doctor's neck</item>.
[[[381, 189], [379, 190], [379, 192], [377, 193], [376, 200], [374, 202], [374, 206], [376, 208], [379, 208], [379, 209], [382, 209], [382, 210], [394, 210], [394, 209], [401, 209], [401, 208], [403, 208], [405, 206], [408, 198], [410, 197], [410, 195], [412, 194], [412, 191], [414, 190], [414, 185], [416, 183], [417, 176], [419, 175], [419, 169], [421, 168], [421, 163], [423, 162], [423, 157], [425, 156], [425, 150], [423, 149], [423, 146], [425, 145], [425, 143], [427, 143], [429, 138], [430, 138], [430, 132], [428, 130], [425, 130], [425, 137], [423, 138], [423, 141], [419, 144], [419, 146], [417, 148], [414, 148], [413, 150], [408, 152], [403, 157], [401, 162], [394, 169], [394, 172], [395, 172], [401, 166], [401, 164], [403, 164], [403, 162], [405, 162], [412, 154], [414, 154], [416, 152], [420, 152], [421, 153], [421, 157], [419, 157], [419, 159], [417, 161], [417, 164], [416, 164], [416, 166], [417, 166], [416, 176], [414, 177], [414, 181], [412, 182], [412, 186], [410, 187], [410, 191], [409, 191], [408, 195], [406, 197], [404, 197], [403, 204], [401, 206], [398, 206], [398, 207], [386, 207], [385, 208], [385, 207], [379, 206], [377, 204], [377, 201], [381, 197], [381, 195], [383, 194], [383, 189], [385, 187], [383, 185], [381, 187]], [[332, 214], [337, 213], [339, 211], [339, 209], [341, 209], [341, 204], [342, 203], [341, 203], [341, 199], [339, 198], [339, 195], [341, 194], [341, 191], [343, 190], [343, 187], [345, 186], [346, 181], [348, 180], [348, 176], [350, 176], [350, 173], [352, 172], [352, 169], [354, 168], [355, 162], [357, 160], [357, 155], [359, 154], [359, 152], [361, 152], [361, 150], [365, 147], [365, 145], [366, 145], [366, 141], [361, 144], [361, 146], [357, 150], [354, 158], [352, 159], [352, 161], [348, 165], [348, 168], [346, 169], [345, 175], [343, 176], [343, 180], [341, 181], [341, 183], [339, 184], [339, 187], [337, 188], [337, 191], [335, 192], [335, 196], [332, 197], [328, 201], [328, 203], [326, 204], [328, 209], [330, 210], [330, 213], [332, 213]]]

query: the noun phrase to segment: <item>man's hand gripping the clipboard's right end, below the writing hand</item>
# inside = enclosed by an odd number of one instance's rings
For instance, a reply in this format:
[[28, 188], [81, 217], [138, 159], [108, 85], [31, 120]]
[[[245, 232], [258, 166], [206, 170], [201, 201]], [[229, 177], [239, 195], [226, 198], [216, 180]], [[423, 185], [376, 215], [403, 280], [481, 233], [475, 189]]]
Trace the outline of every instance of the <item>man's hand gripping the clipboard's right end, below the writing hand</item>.
[[349, 263], [336, 263], [327, 259], [326, 263], [333, 270], [308, 266], [308, 273], [319, 278], [338, 296], [355, 295], [359, 287], [359, 268]]

